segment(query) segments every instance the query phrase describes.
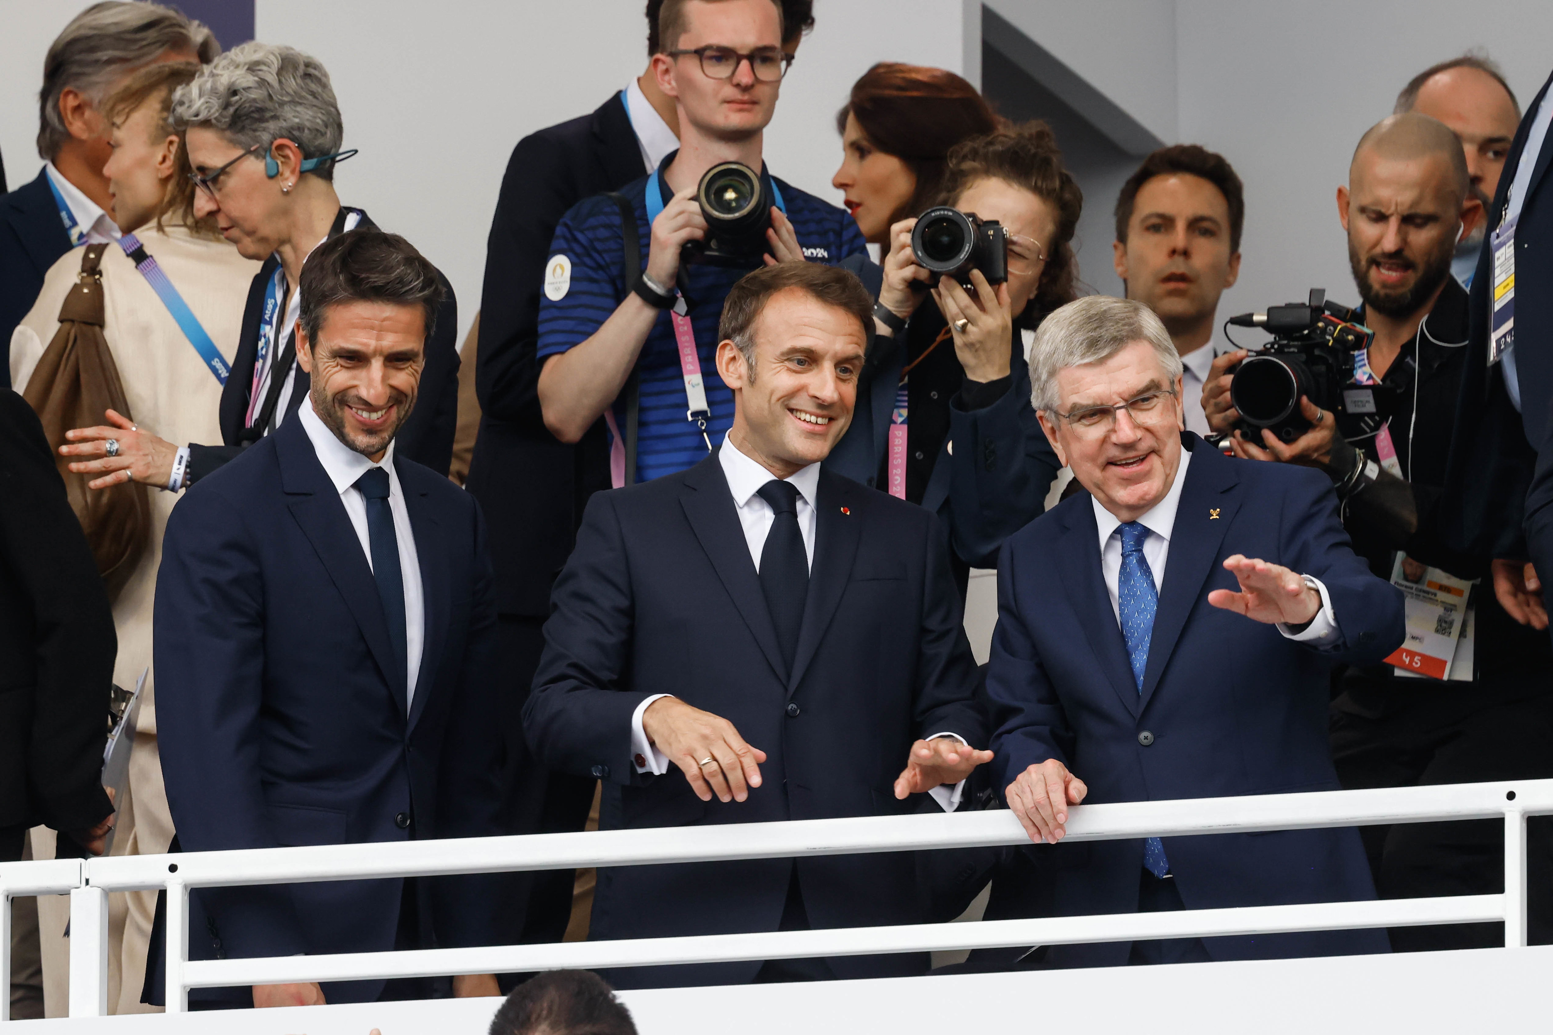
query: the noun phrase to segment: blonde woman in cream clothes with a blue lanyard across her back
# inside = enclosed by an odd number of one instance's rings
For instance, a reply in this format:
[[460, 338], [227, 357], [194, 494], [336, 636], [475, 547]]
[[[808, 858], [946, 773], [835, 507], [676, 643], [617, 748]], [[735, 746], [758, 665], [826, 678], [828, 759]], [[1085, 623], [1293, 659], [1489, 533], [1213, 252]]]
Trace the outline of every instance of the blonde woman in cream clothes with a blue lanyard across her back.
[[[134, 687], [151, 666], [151, 614], [162, 562], [162, 531], [177, 492], [168, 470], [174, 466], [172, 441], [210, 441], [221, 430], [222, 374], [238, 351], [239, 317], [248, 282], [258, 270], [224, 242], [210, 222], [194, 217], [194, 185], [188, 178], [179, 135], [169, 109], [172, 92], [191, 82], [199, 65], [162, 62], [132, 73], [99, 106], [112, 144], [106, 166], [110, 214], [121, 230], [116, 244], [102, 253], [102, 335], [118, 368], [129, 413], [95, 414], [99, 427], [68, 431], [71, 444], [51, 442], [65, 456], [81, 456], [71, 472], [90, 478], [87, 492], [129, 483], [155, 486], [144, 549], [113, 599], [118, 628], [118, 661], [113, 681]], [[73, 250], [48, 272], [37, 303], [12, 335], [11, 374], [17, 391], [31, 379], [45, 346], [59, 329], [61, 309], [81, 270]], [[169, 293], [171, 292], [171, 293]], [[172, 309], [169, 309], [172, 306]], [[174, 315], [174, 309], [179, 315]], [[42, 391], [30, 391], [30, 399]], [[165, 436], [165, 438], [158, 438]], [[104, 456], [115, 442], [116, 456]], [[154, 478], [162, 475], [160, 483]], [[165, 852], [172, 839], [157, 754], [155, 673], [146, 677], [135, 748], [130, 754], [129, 794], [120, 805], [115, 855]], [[155, 911], [154, 892], [112, 897], [110, 929], [113, 976], [129, 995], [110, 988], [120, 1012], [140, 1004], [146, 940]], [[56, 939], [68, 920], [64, 898], [45, 898], [43, 931]], [[47, 940], [48, 981], [64, 981], [64, 945]], [[56, 951], [57, 950], [57, 951]], [[57, 971], [57, 973], [56, 973]]]

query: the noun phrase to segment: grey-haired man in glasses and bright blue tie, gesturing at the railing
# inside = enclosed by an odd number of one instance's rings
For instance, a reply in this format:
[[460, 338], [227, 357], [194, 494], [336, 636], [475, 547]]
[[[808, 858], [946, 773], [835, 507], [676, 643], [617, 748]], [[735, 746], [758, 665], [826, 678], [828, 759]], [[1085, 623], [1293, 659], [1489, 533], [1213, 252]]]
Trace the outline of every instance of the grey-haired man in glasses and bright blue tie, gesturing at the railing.
[[[1041, 425], [1087, 490], [1011, 537], [999, 562], [992, 767], [1031, 839], [1056, 846], [1082, 801], [1337, 790], [1329, 669], [1401, 646], [1402, 597], [1350, 549], [1329, 479], [1230, 459], [1183, 431], [1180, 357], [1140, 303], [1056, 310], [1030, 369]], [[1027, 850], [1051, 853], [1064, 916], [1374, 897], [1353, 829]], [[1340, 931], [1068, 945], [1041, 959], [1385, 950], [1384, 931]]]

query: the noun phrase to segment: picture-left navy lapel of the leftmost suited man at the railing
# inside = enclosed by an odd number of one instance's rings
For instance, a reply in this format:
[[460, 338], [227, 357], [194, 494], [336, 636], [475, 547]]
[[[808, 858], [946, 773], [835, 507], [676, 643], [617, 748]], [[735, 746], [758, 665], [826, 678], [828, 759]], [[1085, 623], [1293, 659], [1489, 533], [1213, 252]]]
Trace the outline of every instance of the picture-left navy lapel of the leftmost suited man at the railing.
[[367, 647], [377, 661], [379, 672], [404, 709], [405, 678], [394, 663], [388, 644], [388, 619], [377, 597], [371, 565], [362, 552], [362, 542], [351, 528], [340, 493], [323, 472], [301, 421], [287, 421], [275, 431], [275, 453], [281, 466], [281, 487], [292, 517], [301, 526], [329, 579], [345, 597], [345, 605], [362, 630]]

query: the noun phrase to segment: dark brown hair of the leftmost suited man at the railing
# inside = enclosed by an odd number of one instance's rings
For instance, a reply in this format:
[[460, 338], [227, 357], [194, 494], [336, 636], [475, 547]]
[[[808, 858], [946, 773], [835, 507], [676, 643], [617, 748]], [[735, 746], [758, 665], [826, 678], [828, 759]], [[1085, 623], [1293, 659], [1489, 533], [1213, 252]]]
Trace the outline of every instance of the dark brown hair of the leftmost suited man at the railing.
[[380, 230], [353, 230], [325, 241], [301, 267], [298, 290], [301, 326], [314, 343], [318, 341], [325, 310], [354, 301], [421, 306], [426, 310], [426, 337], [430, 338], [436, 310], [447, 296], [436, 267], [408, 241]]

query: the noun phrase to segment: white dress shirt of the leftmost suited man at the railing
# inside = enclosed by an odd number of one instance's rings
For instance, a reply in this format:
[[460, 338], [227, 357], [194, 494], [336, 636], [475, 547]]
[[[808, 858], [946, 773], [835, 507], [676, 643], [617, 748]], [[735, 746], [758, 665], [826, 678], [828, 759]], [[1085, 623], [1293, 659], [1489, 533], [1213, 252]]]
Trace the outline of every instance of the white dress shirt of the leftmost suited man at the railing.
[[345, 515], [351, 518], [356, 538], [362, 542], [362, 552], [367, 556], [367, 566], [373, 566], [373, 540], [367, 531], [367, 497], [356, 487], [356, 481], [373, 467], [388, 472], [388, 512], [393, 514], [393, 535], [399, 543], [399, 571], [404, 574], [404, 647], [405, 647], [405, 708], [415, 700], [415, 681], [421, 673], [421, 652], [426, 650], [426, 594], [421, 588], [421, 560], [415, 552], [415, 529], [410, 528], [410, 512], [404, 506], [404, 489], [399, 486], [399, 473], [393, 466], [393, 442], [384, 453], [380, 464], [374, 464], [349, 445], [334, 436], [318, 414], [312, 410], [312, 400], [297, 408], [297, 417], [303, 430], [312, 439], [312, 448], [323, 464], [323, 473], [329, 476], [345, 504]]

